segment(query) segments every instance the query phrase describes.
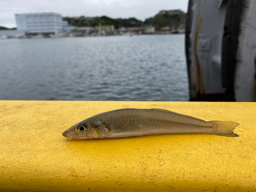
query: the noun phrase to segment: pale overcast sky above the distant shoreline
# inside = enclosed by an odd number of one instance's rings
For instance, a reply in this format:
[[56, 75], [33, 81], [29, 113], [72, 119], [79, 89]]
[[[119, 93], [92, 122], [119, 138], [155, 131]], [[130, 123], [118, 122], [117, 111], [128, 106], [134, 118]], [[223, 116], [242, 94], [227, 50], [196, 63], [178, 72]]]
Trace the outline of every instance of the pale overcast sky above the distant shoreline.
[[62, 16], [152, 17], [160, 10], [187, 12], [188, 0], [0, 0], [0, 26], [16, 27], [15, 13], [56, 12]]

